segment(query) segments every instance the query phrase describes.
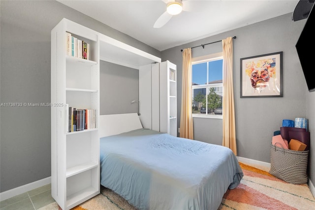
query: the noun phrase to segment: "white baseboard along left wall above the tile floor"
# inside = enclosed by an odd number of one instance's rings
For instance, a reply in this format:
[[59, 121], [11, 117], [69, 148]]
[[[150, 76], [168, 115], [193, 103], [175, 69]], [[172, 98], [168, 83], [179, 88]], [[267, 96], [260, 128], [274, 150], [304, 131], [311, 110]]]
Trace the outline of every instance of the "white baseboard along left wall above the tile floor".
[[20, 187], [16, 187], [14, 189], [1, 192], [0, 193], [0, 201], [4, 201], [6, 199], [12, 198], [14, 196], [20, 195], [22, 193], [28, 192], [30, 190], [36, 189], [38, 187], [41, 187], [41, 186], [44, 186], [44, 185], [50, 184], [50, 183], [51, 183], [51, 177], [49, 176], [47, 178], [43, 178], [41, 180], [34, 181], [32, 183], [25, 184], [25, 185], [20, 186]]

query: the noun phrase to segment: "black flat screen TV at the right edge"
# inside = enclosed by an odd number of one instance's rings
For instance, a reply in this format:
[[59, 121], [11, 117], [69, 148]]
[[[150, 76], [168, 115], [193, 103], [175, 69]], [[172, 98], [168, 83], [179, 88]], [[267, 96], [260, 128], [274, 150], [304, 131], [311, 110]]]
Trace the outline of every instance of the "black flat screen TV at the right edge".
[[315, 4], [313, 4], [312, 6], [312, 9], [304, 25], [303, 31], [295, 45], [309, 92], [315, 91], [315, 79], [314, 79], [315, 8], [314, 8], [314, 5]]

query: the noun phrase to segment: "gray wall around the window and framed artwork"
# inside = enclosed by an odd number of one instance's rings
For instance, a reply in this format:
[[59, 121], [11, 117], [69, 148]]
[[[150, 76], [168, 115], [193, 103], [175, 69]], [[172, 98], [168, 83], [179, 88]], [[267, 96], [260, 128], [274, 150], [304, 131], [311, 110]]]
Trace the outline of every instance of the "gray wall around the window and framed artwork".
[[[314, 137], [315, 92], [309, 93], [307, 90], [295, 49], [295, 44], [305, 22], [305, 19], [293, 22], [291, 14], [285, 14], [162, 51], [162, 61], [169, 60], [177, 65], [177, 94], [181, 96], [182, 52], [180, 50], [222, 40], [228, 36], [237, 36], [236, 39], [233, 39], [233, 82], [237, 155], [240, 157], [270, 163], [270, 143], [273, 132], [280, 130], [283, 119], [308, 118], [311, 141]], [[193, 48], [192, 57], [215, 53], [218, 50], [222, 50], [221, 42], [207, 45], [204, 49], [202, 47]], [[279, 51], [283, 51], [283, 97], [240, 98], [240, 59]], [[177, 110], [178, 116], [180, 116], [181, 101], [180, 97], [178, 98]], [[309, 102], [306, 103], [307, 101]], [[180, 117], [178, 125], [179, 122]], [[217, 130], [218, 128], [214, 126], [214, 124], [221, 122], [218, 119], [194, 118], [194, 138], [221, 144], [222, 135], [218, 135], [218, 132], [221, 132], [222, 129]], [[310, 167], [310, 177], [313, 183], [315, 183], [314, 150], [311, 145], [309, 166], [312, 166]]]

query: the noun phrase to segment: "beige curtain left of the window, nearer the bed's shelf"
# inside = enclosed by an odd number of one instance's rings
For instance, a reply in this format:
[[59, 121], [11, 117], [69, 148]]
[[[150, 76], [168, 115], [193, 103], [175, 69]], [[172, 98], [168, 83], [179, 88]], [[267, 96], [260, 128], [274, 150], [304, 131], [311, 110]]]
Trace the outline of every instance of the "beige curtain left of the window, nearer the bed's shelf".
[[182, 108], [179, 136], [193, 140], [191, 77], [191, 48], [187, 48], [183, 50]]

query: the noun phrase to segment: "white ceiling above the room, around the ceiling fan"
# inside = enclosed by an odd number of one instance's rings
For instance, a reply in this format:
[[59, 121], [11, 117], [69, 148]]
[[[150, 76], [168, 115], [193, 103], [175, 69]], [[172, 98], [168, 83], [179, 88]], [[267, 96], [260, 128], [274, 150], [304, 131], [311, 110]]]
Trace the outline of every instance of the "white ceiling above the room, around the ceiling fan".
[[292, 13], [299, 0], [183, 0], [184, 8], [163, 27], [163, 0], [58, 0], [159, 51]]

